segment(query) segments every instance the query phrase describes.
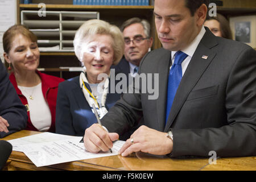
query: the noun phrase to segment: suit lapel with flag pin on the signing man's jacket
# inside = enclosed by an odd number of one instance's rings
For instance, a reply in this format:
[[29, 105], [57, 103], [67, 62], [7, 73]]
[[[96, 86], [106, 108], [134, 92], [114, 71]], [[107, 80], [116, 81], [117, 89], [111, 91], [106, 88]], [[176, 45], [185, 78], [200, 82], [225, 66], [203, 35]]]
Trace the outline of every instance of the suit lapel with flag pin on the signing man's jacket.
[[[207, 32], [205, 32], [203, 39], [199, 43], [199, 46], [197, 46], [184, 76], [180, 81], [164, 131], [167, 131], [171, 127], [181, 107], [187, 100], [189, 93], [194, 88], [197, 81], [199, 81], [212, 59], [216, 56], [216, 53], [210, 50], [210, 48], [216, 45], [216, 39], [209, 33], [207, 28]], [[207, 59], [202, 58], [204, 55], [208, 56]]]

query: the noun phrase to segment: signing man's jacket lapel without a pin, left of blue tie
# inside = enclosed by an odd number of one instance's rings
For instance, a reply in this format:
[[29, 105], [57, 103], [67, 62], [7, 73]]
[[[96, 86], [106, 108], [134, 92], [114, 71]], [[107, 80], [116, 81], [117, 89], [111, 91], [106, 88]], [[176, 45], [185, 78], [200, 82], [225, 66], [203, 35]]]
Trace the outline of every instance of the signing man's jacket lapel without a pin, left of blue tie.
[[[159, 131], [163, 131], [166, 119], [166, 97], [168, 74], [171, 66], [171, 51], [159, 58], [158, 73], [159, 73], [159, 97], [156, 100], [156, 111], [158, 114]], [[168, 65], [168, 67], [167, 67]]]

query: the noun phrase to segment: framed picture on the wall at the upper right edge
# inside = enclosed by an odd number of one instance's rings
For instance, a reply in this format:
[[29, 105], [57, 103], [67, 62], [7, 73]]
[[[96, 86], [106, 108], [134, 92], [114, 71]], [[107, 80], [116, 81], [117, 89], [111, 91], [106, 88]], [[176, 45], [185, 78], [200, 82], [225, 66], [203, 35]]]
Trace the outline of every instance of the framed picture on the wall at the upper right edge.
[[230, 17], [234, 40], [256, 48], [256, 15]]

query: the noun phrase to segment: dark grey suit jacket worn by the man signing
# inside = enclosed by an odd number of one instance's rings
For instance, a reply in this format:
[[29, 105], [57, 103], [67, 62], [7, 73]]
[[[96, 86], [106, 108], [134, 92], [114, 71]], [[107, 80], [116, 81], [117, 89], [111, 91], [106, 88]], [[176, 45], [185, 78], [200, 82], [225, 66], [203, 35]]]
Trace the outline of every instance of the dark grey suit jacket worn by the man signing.
[[[208, 59], [202, 59], [203, 55]], [[208, 156], [210, 151], [217, 156], [256, 155], [256, 51], [216, 37], [207, 28], [164, 126], [170, 57], [171, 51], [161, 48], [141, 61], [139, 73], [159, 73], [158, 99], [148, 100], [147, 93], [123, 94], [102, 118], [102, 125], [120, 134], [143, 115], [145, 125], [152, 129], [172, 129], [173, 157]]]

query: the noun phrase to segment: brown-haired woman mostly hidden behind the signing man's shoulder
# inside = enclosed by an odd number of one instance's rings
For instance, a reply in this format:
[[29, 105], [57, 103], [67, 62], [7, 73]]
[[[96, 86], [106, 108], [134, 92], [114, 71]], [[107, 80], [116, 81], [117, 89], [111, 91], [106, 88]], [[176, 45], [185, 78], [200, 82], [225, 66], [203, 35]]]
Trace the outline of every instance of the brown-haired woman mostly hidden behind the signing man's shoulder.
[[215, 36], [220, 36], [226, 39], [232, 39], [232, 31], [228, 20], [221, 14], [217, 16], [208, 17], [204, 26], [208, 27]]

